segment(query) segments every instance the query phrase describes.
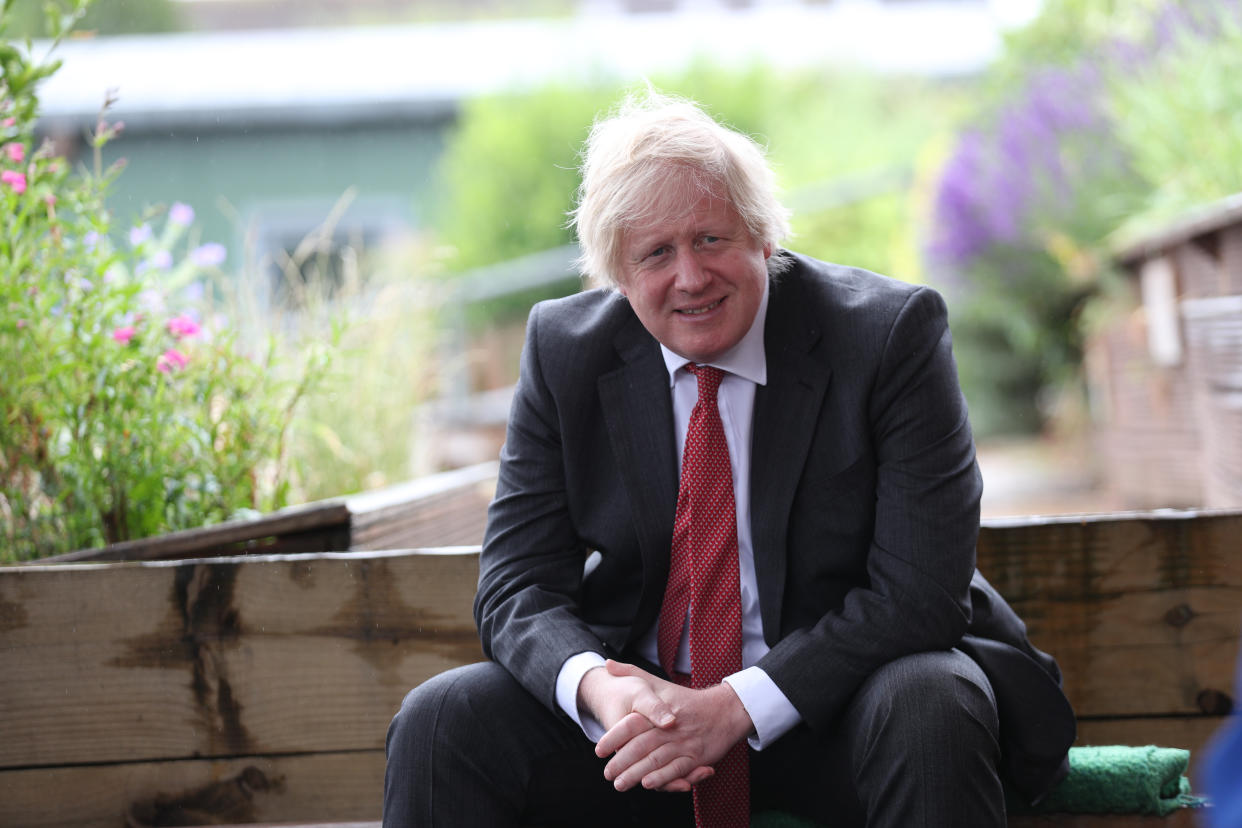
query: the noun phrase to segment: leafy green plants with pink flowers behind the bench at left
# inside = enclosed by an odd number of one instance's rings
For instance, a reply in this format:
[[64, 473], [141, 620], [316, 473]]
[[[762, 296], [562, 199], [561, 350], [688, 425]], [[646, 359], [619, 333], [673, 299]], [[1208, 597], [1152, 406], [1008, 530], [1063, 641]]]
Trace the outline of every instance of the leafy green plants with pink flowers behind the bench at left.
[[0, 55], [0, 560], [283, 505], [291, 415], [325, 348], [289, 371], [274, 338], [205, 319], [193, 294], [222, 248], [191, 245], [186, 205], [111, 238], [120, 170], [98, 154], [117, 128], [101, 115], [93, 171], [35, 149], [55, 65], [31, 60]]

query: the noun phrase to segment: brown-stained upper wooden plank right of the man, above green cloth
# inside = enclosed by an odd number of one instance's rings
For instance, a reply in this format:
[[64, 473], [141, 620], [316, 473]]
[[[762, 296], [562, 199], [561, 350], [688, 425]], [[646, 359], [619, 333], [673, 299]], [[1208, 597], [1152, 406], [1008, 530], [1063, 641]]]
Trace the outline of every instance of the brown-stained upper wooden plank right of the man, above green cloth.
[[1232, 695], [1242, 514], [994, 520], [979, 566], [1057, 657], [1086, 716], [1192, 715]]

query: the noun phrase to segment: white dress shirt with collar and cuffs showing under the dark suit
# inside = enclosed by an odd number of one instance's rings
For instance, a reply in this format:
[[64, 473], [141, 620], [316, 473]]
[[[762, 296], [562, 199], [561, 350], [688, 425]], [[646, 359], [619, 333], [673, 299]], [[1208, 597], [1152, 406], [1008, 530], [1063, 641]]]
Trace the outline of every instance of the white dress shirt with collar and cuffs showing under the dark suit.
[[[759, 590], [755, 580], [755, 555], [750, 539], [750, 426], [755, 406], [755, 386], [768, 384], [768, 360], [764, 353], [764, 320], [768, 315], [768, 286], [755, 313], [755, 320], [746, 335], [709, 362], [725, 371], [717, 394], [720, 421], [724, 423], [729, 444], [729, 464], [733, 468], [733, 495], [738, 510], [738, 564], [741, 587], [741, 672], [725, 677], [741, 700], [755, 725], [750, 746], [763, 750], [794, 727], [801, 716], [780, 688], [766, 673], [754, 664], [764, 657], [769, 647], [764, 642], [763, 622], [759, 614]], [[673, 433], [677, 439], [678, 467], [686, 446], [691, 411], [698, 401], [698, 380], [683, 367], [689, 362], [663, 345], [660, 346], [668, 367], [673, 397]], [[658, 622], [657, 622], [658, 626]], [[656, 627], [638, 642], [638, 652], [653, 664], [660, 663]], [[604, 727], [590, 715], [578, 710], [578, 685], [587, 670], [604, 664], [597, 653], [579, 653], [566, 659], [556, 677], [556, 704], [575, 721], [592, 741], [599, 741]], [[689, 624], [682, 629], [677, 648], [676, 669], [691, 672]]]

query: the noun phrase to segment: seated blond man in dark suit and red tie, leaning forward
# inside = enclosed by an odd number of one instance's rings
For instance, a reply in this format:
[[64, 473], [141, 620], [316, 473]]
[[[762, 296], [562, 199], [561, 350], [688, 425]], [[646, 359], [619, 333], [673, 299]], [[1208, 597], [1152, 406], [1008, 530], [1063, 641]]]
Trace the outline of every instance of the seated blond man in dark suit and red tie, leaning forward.
[[[1064, 772], [1051, 658], [974, 566], [945, 308], [779, 247], [760, 149], [648, 94], [530, 314], [474, 612], [407, 696], [386, 826], [1002, 826]], [[592, 744], [594, 742], [594, 744]]]

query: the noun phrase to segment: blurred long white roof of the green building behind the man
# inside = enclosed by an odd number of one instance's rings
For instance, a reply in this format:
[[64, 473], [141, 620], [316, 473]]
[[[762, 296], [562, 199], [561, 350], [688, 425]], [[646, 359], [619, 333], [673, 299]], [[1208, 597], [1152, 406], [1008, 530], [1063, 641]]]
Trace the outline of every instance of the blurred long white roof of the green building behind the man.
[[[241, 119], [438, 117], [458, 101], [551, 79], [635, 81], [697, 56], [965, 73], [1000, 46], [985, 1], [833, 2], [350, 29], [75, 40], [43, 114], [89, 122], [108, 89], [130, 128]], [[46, 52], [46, 45], [36, 46]]]

